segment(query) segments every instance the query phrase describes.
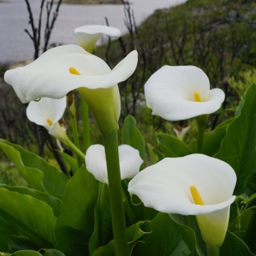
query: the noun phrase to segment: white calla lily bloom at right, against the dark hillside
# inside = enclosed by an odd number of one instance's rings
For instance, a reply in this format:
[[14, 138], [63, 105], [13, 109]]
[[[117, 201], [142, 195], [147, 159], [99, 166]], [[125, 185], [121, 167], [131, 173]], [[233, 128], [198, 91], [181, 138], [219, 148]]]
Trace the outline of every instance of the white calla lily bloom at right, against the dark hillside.
[[164, 66], [145, 83], [145, 98], [153, 115], [178, 121], [217, 111], [225, 93], [210, 90], [206, 73], [195, 66]]

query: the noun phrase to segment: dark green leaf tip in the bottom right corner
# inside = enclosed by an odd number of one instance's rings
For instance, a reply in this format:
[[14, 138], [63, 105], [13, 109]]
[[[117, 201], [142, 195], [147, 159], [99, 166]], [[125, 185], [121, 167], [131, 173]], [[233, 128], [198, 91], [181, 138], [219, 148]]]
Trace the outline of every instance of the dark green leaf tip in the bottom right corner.
[[243, 240], [229, 230], [225, 235], [224, 243], [220, 247], [220, 256], [254, 256]]

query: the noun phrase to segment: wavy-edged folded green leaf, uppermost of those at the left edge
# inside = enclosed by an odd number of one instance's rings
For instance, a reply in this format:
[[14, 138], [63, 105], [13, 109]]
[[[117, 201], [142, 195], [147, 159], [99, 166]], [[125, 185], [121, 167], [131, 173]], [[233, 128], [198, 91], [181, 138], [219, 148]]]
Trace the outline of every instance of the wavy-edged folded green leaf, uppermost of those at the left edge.
[[19, 169], [30, 187], [62, 199], [69, 178], [38, 155], [0, 139], [0, 147]]

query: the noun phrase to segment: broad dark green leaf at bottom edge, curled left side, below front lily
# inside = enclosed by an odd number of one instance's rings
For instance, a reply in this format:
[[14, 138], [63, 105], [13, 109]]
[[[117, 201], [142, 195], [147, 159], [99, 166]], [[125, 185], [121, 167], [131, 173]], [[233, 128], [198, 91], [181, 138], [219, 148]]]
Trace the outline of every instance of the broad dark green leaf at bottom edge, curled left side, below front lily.
[[154, 220], [143, 225], [148, 234], [140, 238], [135, 244], [132, 255], [187, 255], [189, 249], [182, 242], [181, 236], [173, 225], [168, 214], [159, 213]]

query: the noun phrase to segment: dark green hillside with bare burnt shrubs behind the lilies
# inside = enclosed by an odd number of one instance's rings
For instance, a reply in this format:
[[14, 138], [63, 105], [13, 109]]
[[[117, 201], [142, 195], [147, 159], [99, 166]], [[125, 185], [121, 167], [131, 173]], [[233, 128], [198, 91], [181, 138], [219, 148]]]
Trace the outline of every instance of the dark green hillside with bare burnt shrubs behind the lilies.
[[[138, 114], [143, 86], [163, 65], [195, 65], [209, 77], [212, 88], [222, 88], [226, 99], [222, 111], [211, 117], [211, 126], [235, 106], [238, 95], [230, 87], [230, 77], [254, 70], [256, 64], [256, 2], [241, 0], [188, 0], [169, 9], [158, 10], [136, 27], [132, 6], [126, 6], [130, 35], [111, 44], [107, 52], [114, 66], [130, 50], [138, 50], [140, 63], [128, 83], [121, 84], [126, 113]], [[97, 49], [104, 58], [107, 46]], [[142, 97], [141, 97], [142, 96]], [[220, 115], [221, 114], [221, 115]], [[142, 118], [144, 118], [143, 112]], [[140, 121], [140, 118], [139, 118]]]

